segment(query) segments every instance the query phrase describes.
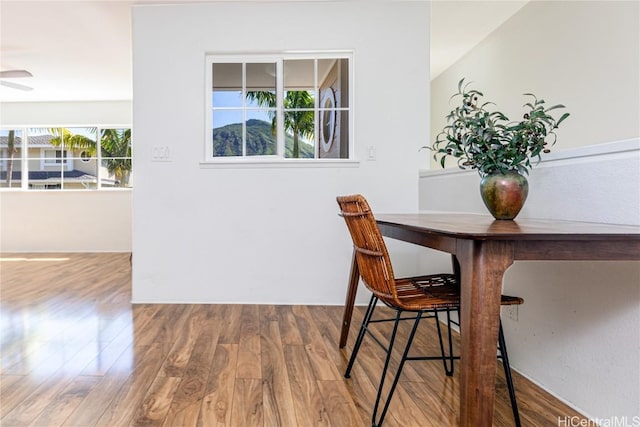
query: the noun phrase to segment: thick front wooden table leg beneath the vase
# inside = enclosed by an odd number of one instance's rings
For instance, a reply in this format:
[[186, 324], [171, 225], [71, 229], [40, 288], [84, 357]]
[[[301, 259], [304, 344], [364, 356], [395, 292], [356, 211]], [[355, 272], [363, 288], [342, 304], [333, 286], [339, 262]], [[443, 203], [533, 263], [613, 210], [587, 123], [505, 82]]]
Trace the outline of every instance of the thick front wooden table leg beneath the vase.
[[500, 295], [513, 263], [509, 242], [458, 240], [461, 269], [460, 425], [493, 423]]

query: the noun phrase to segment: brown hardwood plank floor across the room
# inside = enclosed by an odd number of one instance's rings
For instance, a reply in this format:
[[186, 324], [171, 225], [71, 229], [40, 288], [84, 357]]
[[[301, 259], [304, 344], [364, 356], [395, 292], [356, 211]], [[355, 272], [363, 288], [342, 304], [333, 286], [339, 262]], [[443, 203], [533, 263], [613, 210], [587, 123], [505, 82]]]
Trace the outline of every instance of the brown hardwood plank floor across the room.
[[[362, 308], [341, 351], [340, 306], [132, 305], [130, 288], [128, 254], [1, 256], [0, 425], [371, 424], [382, 352], [365, 341], [351, 379], [342, 376]], [[437, 353], [433, 326], [423, 322], [418, 351]], [[495, 425], [510, 426], [496, 381]], [[579, 416], [514, 381], [524, 426]], [[412, 362], [385, 425], [454, 426], [457, 412], [457, 377]]]

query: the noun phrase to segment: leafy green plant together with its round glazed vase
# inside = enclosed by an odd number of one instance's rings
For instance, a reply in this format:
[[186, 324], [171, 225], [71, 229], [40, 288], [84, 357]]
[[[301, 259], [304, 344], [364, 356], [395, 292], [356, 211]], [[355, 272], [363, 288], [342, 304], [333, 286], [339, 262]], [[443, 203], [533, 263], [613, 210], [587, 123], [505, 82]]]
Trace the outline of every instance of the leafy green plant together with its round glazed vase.
[[458, 159], [461, 169], [476, 169], [480, 192], [489, 212], [496, 219], [515, 218], [526, 200], [529, 184], [525, 175], [555, 144], [555, 129], [569, 113], [556, 120], [550, 111], [565, 108], [558, 104], [545, 108], [545, 101], [531, 93], [524, 104], [522, 120], [510, 121], [500, 111], [489, 111], [492, 102], [481, 101], [482, 92], [470, 89], [463, 78], [451, 99], [458, 105], [447, 115], [447, 124], [430, 147], [434, 159], [445, 166], [447, 157]]

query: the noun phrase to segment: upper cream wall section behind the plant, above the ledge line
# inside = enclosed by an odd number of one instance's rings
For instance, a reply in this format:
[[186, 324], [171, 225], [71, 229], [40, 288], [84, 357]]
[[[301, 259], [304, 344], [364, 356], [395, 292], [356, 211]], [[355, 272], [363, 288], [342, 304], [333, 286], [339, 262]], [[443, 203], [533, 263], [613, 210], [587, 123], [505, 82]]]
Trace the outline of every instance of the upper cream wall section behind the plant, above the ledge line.
[[[553, 151], [640, 132], [640, 2], [532, 1], [431, 85], [431, 141], [461, 78], [520, 120], [530, 92], [571, 113]], [[455, 162], [450, 161], [451, 165]], [[439, 167], [439, 166], [438, 166]]]

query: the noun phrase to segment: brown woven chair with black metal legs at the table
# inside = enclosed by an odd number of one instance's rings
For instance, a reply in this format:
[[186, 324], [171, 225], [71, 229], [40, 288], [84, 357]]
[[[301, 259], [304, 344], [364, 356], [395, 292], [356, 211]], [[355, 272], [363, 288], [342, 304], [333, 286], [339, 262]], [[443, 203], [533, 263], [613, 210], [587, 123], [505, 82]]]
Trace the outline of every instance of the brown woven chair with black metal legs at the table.
[[[358, 338], [354, 344], [353, 352], [349, 359], [349, 364], [344, 376], [349, 378], [351, 369], [355, 363], [356, 356], [360, 350], [360, 345], [365, 335], [370, 335], [374, 341], [382, 347], [386, 352], [386, 359], [382, 369], [380, 383], [376, 401], [373, 407], [372, 426], [380, 426], [389, 409], [389, 404], [393, 393], [395, 392], [402, 368], [408, 360], [442, 360], [445, 373], [453, 375], [453, 362], [459, 359], [459, 356], [453, 356], [451, 343], [451, 311], [458, 311], [460, 308], [460, 286], [457, 274], [433, 274], [410, 278], [395, 278], [391, 259], [387, 252], [387, 247], [382, 238], [382, 234], [375, 221], [373, 213], [366, 199], [361, 195], [341, 196], [337, 197], [340, 206], [341, 216], [344, 218], [356, 254], [356, 261], [360, 276], [366, 287], [371, 291], [371, 300], [367, 311], [364, 315], [362, 326], [358, 333]], [[455, 267], [455, 266], [454, 266]], [[454, 268], [455, 270], [455, 268]], [[395, 317], [391, 319], [374, 319], [373, 313], [378, 301], [395, 310]], [[503, 305], [522, 304], [523, 300], [517, 297], [502, 297]], [[444, 313], [447, 317], [448, 329], [448, 354], [442, 340], [440, 322], [438, 313]], [[406, 313], [411, 313], [408, 317]], [[438, 338], [440, 341], [440, 355], [436, 356], [409, 356], [409, 349], [413, 342], [416, 330], [423, 318], [436, 319], [436, 327]], [[413, 326], [409, 337], [402, 351], [402, 357], [398, 365], [397, 372], [388, 391], [384, 407], [378, 417], [380, 400], [382, 391], [391, 361], [391, 354], [396, 340], [398, 325], [401, 320], [413, 320]], [[371, 324], [379, 322], [394, 322], [391, 336], [387, 339], [380, 338], [374, 330], [370, 328]], [[387, 345], [385, 345], [385, 341]], [[520, 417], [518, 414], [518, 406], [511, 378], [511, 370], [509, 367], [509, 359], [506, 351], [504, 334], [502, 331], [502, 323], [499, 332], [499, 354], [503, 362], [505, 377], [509, 388], [509, 396], [511, 399], [511, 407], [516, 426], [520, 426]]]

